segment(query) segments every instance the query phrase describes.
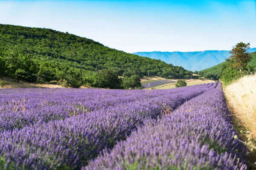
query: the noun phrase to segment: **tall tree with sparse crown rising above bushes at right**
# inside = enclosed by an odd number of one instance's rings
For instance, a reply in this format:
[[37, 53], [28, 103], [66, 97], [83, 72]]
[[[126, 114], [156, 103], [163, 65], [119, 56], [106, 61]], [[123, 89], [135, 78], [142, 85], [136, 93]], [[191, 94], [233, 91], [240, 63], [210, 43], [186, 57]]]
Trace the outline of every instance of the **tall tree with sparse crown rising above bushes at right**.
[[240, 73], [242, 68], [247, 65], [252, 57], [249, 55], [248, 49], [250, 48], [250, 43], [239, 42], [235, 47], [230, 51], [230, 59], [234, 60], [233, 67], [238, 68]]

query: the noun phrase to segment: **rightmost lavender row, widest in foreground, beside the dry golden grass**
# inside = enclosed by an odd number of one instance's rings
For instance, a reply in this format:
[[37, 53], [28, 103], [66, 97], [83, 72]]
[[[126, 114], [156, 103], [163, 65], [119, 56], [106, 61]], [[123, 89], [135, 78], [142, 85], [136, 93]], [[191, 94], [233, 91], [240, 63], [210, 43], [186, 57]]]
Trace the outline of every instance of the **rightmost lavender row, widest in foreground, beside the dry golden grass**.
[[162, 119], [148, 119], [82, 169], [245, 170], [246, 147], [234, 135], [219, 83]]

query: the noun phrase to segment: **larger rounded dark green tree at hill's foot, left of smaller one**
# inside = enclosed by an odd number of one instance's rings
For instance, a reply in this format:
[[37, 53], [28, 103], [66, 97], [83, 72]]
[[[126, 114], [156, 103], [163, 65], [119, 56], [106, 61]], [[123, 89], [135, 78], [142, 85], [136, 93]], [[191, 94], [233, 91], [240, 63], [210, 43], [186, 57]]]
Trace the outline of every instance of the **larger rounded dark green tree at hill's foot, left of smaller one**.
[[118, 78], [114, 69], [102, 69], [96, 74], [96, 77], [92, 83], [93, 87], [97, 88], [110, 88], [120, 89], [122, 81]]

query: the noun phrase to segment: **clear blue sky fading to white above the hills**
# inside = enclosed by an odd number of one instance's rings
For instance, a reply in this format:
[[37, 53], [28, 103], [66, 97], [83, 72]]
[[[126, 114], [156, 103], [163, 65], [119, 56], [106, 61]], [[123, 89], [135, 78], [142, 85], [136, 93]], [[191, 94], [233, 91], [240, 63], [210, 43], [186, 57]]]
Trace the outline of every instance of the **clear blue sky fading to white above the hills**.
[[0, 0], [0, 23], [67, 31], [129, 53], [256, 47], [256, 0]]

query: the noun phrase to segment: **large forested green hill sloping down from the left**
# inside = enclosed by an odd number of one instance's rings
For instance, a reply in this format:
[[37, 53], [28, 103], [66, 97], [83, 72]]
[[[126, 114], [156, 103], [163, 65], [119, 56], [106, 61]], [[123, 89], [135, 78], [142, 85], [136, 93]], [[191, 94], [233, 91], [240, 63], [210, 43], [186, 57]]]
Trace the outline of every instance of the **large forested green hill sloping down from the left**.
[[181, 66], [108, 48], [68, 32], [0, 24], [0, 74], [4, 76], [19, 76], [29, 82], [75, 78], [80, 75], [80, 63], [86, 82], [92, 82], [96, 72], [108, 68], [119, 76], [149, 72], [184, 78], [190, 74]]

